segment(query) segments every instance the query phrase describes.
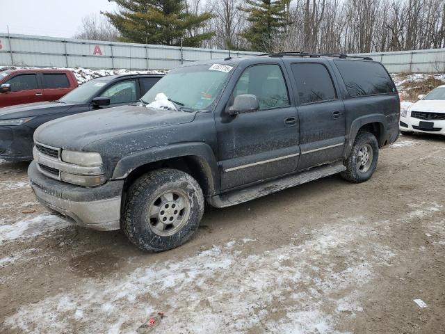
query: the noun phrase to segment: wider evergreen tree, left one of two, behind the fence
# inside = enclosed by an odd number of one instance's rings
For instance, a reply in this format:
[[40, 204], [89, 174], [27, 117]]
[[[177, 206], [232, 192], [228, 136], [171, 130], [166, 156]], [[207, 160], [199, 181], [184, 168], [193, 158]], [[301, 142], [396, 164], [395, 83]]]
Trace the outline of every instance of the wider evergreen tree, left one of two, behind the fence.
[[199, 47], [213, 33], [193, 33], [202, 28], [211, 13], [186, 13], [185, 0], [113, 0], [117, 13], [104, 13], [118, 29], [122, 42]]

